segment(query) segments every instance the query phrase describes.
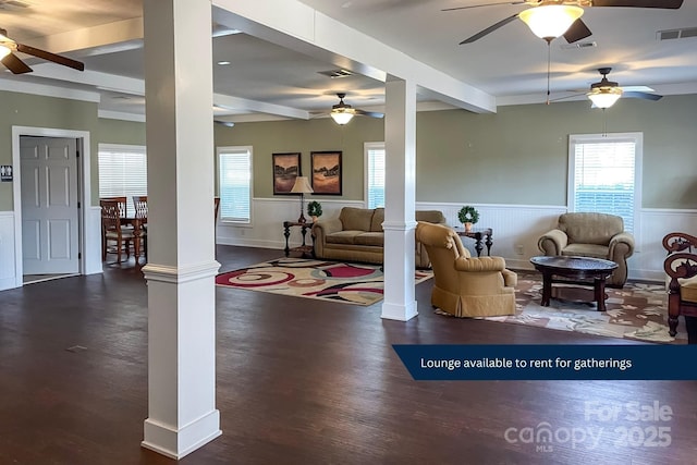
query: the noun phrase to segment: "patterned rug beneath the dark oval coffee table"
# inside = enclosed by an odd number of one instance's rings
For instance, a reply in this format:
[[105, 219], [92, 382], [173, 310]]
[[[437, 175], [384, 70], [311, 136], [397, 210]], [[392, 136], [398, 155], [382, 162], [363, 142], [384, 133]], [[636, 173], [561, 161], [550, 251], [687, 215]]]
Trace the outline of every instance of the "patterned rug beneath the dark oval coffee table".
[[549, 307], [542, 307], [541, 276], [529, 271], [517, 273], [516, 315], [487, 320], [636, 341], [687, 343], [682, 318], [675, 338], [668, 333], [668, 295], [662, 284], [627, 283], [623, 289], [607, 289], [607, 311], [602, 313], [596, 310], [595, 303], [562, 298], [552, 298]]

